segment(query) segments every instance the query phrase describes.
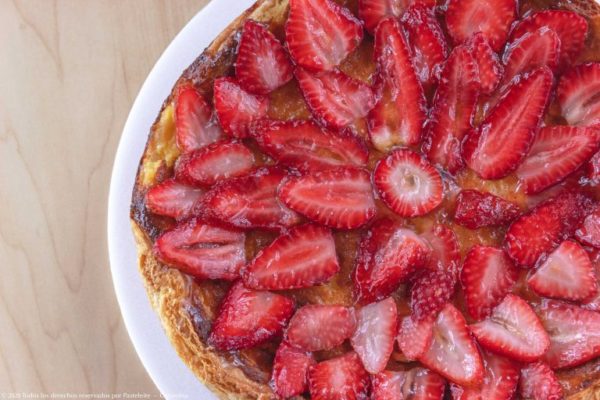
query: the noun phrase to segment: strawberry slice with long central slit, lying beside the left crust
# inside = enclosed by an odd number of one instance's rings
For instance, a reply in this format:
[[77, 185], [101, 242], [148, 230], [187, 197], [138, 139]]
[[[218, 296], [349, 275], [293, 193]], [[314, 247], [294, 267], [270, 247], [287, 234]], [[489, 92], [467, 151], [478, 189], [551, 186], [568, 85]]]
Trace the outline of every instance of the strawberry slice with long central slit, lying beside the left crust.
[[198, 218], [164, 232], [153, 252], [165, 264], [200, 279], [237, 279], [246, 262], [243, 233]]

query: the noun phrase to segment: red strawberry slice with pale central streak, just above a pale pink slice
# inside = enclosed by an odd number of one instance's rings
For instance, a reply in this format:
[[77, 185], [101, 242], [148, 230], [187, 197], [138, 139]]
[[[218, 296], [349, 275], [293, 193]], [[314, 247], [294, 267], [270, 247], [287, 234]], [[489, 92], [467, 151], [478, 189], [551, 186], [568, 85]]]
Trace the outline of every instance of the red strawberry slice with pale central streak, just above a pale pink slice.
[[518, 278], [519, 270], [501, 249], [472, 247], [460, 274], [469, 315], [476, 320], [487, 317]]

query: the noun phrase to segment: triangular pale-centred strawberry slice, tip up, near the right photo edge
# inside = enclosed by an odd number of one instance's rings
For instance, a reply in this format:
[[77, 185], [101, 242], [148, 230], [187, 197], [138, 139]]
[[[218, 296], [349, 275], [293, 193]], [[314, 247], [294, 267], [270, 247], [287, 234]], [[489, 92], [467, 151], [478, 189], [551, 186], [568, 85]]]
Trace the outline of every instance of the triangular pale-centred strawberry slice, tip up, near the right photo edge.
[[544, 297], [584, 300], [598, 293], [594, 267], [586, 251], [566, 240], [554, 250], [527, 280]]

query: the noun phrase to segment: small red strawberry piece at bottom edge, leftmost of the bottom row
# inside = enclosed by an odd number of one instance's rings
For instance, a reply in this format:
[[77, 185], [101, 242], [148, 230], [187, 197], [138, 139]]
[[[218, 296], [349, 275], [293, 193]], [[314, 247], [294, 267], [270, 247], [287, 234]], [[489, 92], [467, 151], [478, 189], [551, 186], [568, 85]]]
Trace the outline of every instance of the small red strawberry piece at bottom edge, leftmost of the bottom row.
[[282, 342], [273, 360], [271, 382], [275, 393], [287, 399], [306, 392], [308, 369], [315, 364], [311, 353]]

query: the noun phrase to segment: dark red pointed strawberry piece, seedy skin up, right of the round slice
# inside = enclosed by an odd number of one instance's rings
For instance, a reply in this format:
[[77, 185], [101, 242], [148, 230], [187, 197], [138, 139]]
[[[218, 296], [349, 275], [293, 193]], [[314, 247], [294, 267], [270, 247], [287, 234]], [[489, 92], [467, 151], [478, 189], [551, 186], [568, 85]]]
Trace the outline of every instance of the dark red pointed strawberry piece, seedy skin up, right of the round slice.
[[469, 229], [505, 225], [521, 213], [515, 203], [477, 190], [462, 190], [456, 197], [454, 222]]

